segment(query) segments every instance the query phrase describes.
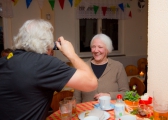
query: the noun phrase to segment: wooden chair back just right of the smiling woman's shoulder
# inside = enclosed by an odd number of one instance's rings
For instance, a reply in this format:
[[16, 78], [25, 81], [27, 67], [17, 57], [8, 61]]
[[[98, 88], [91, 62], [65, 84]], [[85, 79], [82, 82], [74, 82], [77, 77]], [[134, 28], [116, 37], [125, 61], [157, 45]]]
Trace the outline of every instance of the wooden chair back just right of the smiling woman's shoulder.
[[125, 71], [127, 76], [138, 75], [138, 68], [135, 65], [127, 65]]

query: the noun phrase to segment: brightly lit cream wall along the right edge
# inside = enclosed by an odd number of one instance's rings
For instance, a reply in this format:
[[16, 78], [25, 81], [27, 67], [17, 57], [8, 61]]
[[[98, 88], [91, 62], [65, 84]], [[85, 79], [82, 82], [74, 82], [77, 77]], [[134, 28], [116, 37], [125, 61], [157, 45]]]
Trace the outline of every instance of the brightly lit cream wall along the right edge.
[[[163, 91], [168, 100], [168, 1], [150, 0], [148, 25], [148, 91]], [[158, 96], [159, 97], [159, 96]]]

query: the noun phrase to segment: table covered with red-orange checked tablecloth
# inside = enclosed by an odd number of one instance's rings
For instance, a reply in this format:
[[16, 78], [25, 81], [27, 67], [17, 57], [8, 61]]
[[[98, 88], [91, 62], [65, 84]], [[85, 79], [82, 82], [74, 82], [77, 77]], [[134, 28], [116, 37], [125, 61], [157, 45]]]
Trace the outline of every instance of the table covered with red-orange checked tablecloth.
[[[116, 100], [111, 100], [111, 104], [115, 104]], [[72, 117], [71, 120], [80, 120], [79, 115], [82, 112], [92, 110], [94, 109], [94, 106], [98, 104], [98, 101], [90, 101], [90, 102], [84, 102], [84, 103], [79, 103], [76, 105], [76, 115]], [[106, 112], [109, 113], [110, 117], [108, 120], [115, 120], [114, 118], [114, 109], [106, 110]], [[125, 114], [129, 114], [125, 112]], [[137, 120], [150, 120], [148, 118], [140, 118], [136, 116]], [[55, 111], [52, 113], [50, 116], [46, 118], [46, 120], [61, 120], [61, 113], [59, 110]]]

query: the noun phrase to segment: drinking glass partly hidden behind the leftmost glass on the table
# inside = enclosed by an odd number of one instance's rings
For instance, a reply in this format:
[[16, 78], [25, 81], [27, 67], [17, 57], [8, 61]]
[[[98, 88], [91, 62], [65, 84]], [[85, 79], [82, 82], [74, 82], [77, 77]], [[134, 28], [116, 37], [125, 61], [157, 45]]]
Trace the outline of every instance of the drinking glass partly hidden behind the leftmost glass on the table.
[[72, 116], [76, 115], [76, 99], [75, 97], [66, 97], [64, 100], [69, 101], [72, 104]]

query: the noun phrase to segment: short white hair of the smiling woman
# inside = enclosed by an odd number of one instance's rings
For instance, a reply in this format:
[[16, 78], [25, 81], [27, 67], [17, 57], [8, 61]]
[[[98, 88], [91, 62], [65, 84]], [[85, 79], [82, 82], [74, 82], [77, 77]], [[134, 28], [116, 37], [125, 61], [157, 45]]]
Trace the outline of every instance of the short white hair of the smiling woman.
[[91, 42], [90, 42], [90, 47], [92, 46], [92, 42], [94, 39], [100, 39], [105, 45], [106, 45], [106, 48], [108, 50], [108, 53], [111, 53], [112, 50], [113, 50], [113, 43], [112, 43], [112, 40], [110, 39], [110, 37], [108, 37], [107, 35], [105, 34], [97, 34], [95, 35]]

